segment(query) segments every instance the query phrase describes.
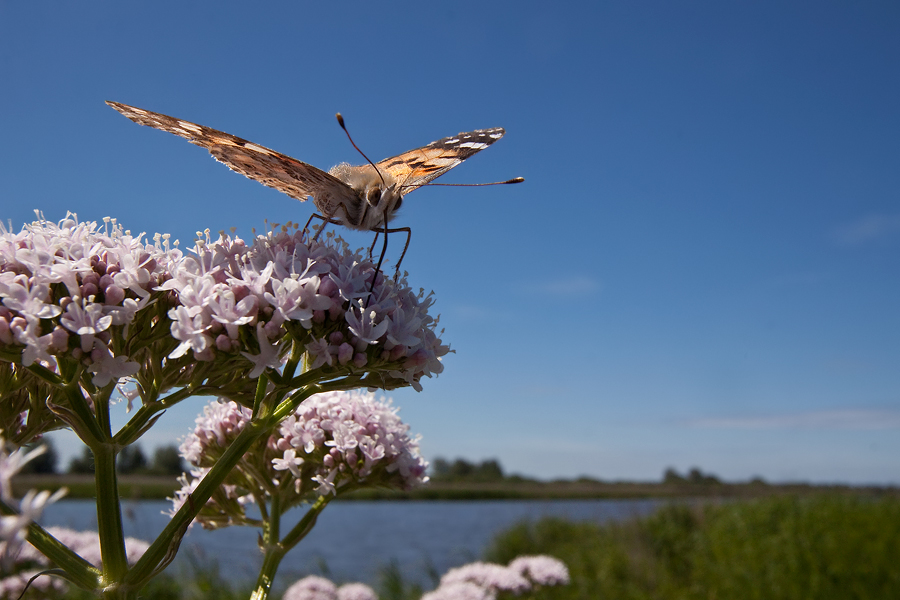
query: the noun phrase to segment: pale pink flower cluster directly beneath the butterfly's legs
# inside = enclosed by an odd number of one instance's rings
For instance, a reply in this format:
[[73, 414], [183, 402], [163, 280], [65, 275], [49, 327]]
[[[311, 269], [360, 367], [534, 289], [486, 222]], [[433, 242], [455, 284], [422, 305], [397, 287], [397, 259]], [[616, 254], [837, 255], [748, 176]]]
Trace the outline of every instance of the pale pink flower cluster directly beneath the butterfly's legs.
[[223, 235], [199, 242], [196, 256], [172, 265], [171, 277], [161, 289], [176, 291], [180, 302], [169, 311], [181, 342], [173, 357], [191, 350], [211, 360], [217, 351], [241, 350], [248, 325], [258, 345], [241, 352], [253, 362], [251, 378], [281, 365], [279, 342], [290, 332], [311, 355], [311, 369], [377, 369], [420, 390], [421, 377], [440, 373], [449, 352], [428, 314], [432, 297], [413, 293], [405, 279], [385, 279], [340, 238], [308, 241], [285, 229], [248, 247]]

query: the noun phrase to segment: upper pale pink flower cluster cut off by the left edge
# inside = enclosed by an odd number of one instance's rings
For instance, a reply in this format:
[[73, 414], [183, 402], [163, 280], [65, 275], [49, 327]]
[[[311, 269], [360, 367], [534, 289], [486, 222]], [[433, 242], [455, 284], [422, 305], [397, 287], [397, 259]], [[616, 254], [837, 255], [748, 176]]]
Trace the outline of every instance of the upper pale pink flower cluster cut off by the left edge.
[[11, 233], [0, 225], [0, 349], [21, 348], [21, 364], [56, 369], [83, 361], [105, 386], [139, 369], [117, 355], [111, 331], [128, 325], [165, 276], [177, 251], [141, 241], [107, 219], [40, 220]]

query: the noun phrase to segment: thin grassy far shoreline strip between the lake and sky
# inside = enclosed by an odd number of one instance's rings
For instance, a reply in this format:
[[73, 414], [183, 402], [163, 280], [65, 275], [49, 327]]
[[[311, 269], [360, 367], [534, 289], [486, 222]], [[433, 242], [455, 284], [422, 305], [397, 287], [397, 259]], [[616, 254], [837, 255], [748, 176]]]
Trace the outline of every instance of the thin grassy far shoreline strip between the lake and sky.
[[[20, 475], [13, 479], [13, 492], [21, 496], [29, 489], [69, 489], [66, 498], [94, 498], [92, 475]], [[130, 500], [164, 500], [181, 486], [171, 476], [122, 475], [119, 496]], [[661, 483], [604, 482], [594, 480], [496, 482], [430, 482], [412, 492], [366, 490], [345, 500], [591, 500], [634, 498], [758, 498], [785, 494], [846, 493], [900, 497], [898, 486], [816, 485], [809, 483]]]

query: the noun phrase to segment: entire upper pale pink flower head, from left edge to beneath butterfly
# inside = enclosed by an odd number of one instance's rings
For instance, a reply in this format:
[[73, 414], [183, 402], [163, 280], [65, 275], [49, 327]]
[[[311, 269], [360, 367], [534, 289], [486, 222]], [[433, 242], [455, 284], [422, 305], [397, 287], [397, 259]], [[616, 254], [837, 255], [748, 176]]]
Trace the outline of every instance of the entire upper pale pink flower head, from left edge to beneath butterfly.
[[[310, 241], [283, 228], [247, 246], [223, 234], [183, 255], [167, 236], [145, 243], [105, 221], [98, 227], [69, 215], [19, 233], [0, 225], [0, 356], [18, 356], [13, 368], [38, 363], [59, 372], [57, 362], [71, 360], [103, 387], [138, 373], [142, 360], [158, 369], [165, 354], [190, 352], [197, 361], [221, 357], [223, 369], [252, 379], [278, 369], [293, 342], [307, 355], [306, 370], [357, 376], [362, 385], [421, 390], [422, 377], [443, 370], [450, 349], [428, 312], [432, 295], [385, 278], [338, 237]], [[160, 325], [175, 342], [164, 355], [125, 353], [158, 341]], [[135, 336], [129, 344], [126, 333]], [[195, 364], [176, 363], [188, 371]]]

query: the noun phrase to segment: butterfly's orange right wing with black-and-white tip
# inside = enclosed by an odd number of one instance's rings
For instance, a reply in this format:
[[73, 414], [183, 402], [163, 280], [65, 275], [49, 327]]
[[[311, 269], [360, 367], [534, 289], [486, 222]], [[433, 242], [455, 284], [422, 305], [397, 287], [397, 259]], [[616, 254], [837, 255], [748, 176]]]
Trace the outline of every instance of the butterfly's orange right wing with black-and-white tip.
[[477, 129], [431, 142], [378, 163], [393, 175], [403, 194], [432, 181], [476, 152], [484, 150], [506, 133], [502, 127]]

